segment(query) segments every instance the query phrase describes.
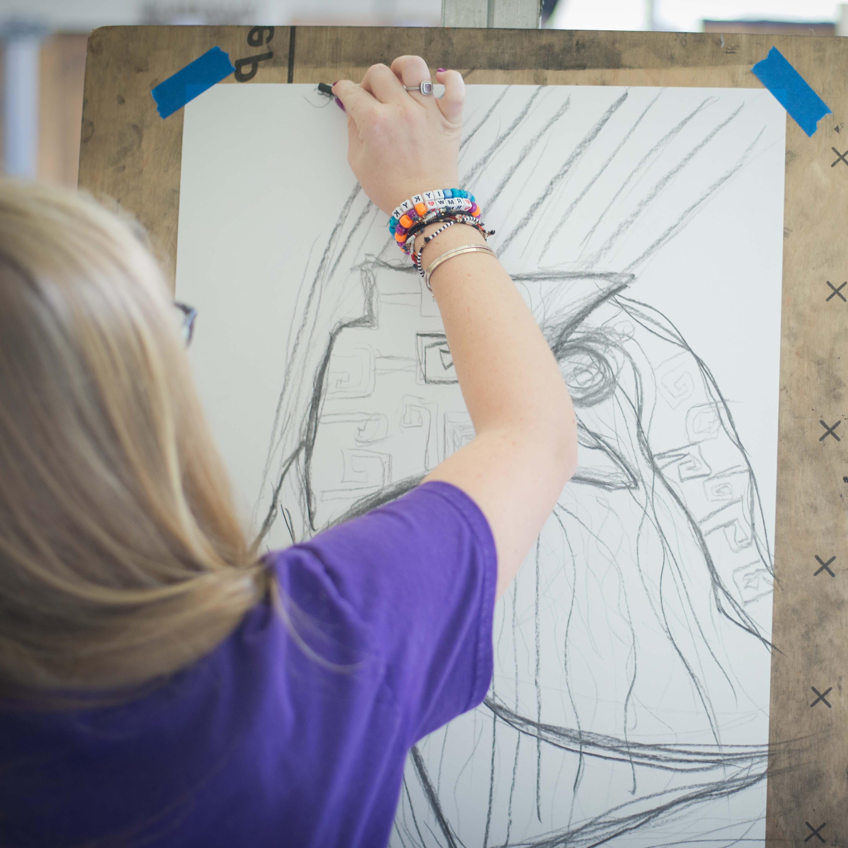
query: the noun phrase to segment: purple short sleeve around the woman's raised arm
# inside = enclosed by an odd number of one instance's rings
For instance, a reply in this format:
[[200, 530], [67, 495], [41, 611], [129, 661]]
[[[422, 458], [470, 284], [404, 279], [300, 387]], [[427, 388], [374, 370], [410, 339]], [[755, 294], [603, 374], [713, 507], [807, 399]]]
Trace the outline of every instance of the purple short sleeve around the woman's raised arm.
[[277, 567], [300, 611], [379, 657], [410, 745], [483, 700], [497, 558], [459, 488], [424, 483], [284, 551]]

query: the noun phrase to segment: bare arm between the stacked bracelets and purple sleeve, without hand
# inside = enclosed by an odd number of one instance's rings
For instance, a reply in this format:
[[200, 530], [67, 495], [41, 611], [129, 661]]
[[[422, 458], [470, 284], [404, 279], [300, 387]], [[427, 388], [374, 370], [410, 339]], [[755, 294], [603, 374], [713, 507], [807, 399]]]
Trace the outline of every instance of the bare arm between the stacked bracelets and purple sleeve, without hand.
[[[452, 226], [427, 246], [423, 264], [482, 241], [470, 227]], [[542, 332], [497, 259], [462, 254], [439, 265], [430, 284], [475, 438], [426, 479], [454, 483], [483, 510], [500, 596], [577, 466], [574, 410]]]

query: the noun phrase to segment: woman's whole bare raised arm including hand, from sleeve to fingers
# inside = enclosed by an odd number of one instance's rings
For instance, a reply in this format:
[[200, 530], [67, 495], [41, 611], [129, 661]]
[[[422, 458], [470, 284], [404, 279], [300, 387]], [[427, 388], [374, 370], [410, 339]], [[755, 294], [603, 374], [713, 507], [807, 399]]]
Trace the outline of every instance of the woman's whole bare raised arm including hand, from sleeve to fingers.
[[[423, 59], [404, 56], [391, 70], [373, 66], [361, 86], [343, 81], [333, 89], [349, 114], [349, 162], [388, 214], [412, 194], [458, 186], [465, 89], [456, 71], [446, 71], [438, 75], [440, 101], [404, 91], [429, 78]], [[427, 245], [423, 265], [472, 243], [483, 237], [452, 226]], [[483, 510], [498, 550], [500, 595], [577, 466], [574, 410], [553, 354], [497, 259], [449, 259], [430, 282], [476, 435], [426, 479], [453, 483]]]

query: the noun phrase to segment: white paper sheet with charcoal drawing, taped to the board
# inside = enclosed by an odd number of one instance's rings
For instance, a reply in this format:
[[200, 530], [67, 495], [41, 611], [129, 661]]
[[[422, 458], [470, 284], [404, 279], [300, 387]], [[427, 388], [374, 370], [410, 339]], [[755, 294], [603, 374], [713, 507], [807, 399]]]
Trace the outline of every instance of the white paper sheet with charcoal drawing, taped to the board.
[[[252, 87], [329, 117], [309, 86]], [[212, 114], [187, 111], [184, 163]], [[751, 397], [778, 388], [784, 123], [758, 91], [469, 89], [460, 184], [560, 364], [579, 467], [498, 606], [484, 704], [410, 753], [392, 845], [762, 843], [777, 429]], [[240, 231], [234, 279], [201, 259], [221, 167], [183, 165], [177, 291], [198, 338], [208, 312], [215, 343], [271, 371], [259, 421], [236, 403], [232, 426], [211, 339], [192, 352], [228, 463], [259, 444], [237, 487], [280, 547], [408, 491], [473, 427], [436, 305], [353, 178], [289, 237], [284, 277], [282, 255], [252, 267], [262, 233]], [[722, 251], [706, 289], [698, 266]], [[276, 332], [218, 330], [249, 281], [263, 309], [268, 275], [287, 280]]]

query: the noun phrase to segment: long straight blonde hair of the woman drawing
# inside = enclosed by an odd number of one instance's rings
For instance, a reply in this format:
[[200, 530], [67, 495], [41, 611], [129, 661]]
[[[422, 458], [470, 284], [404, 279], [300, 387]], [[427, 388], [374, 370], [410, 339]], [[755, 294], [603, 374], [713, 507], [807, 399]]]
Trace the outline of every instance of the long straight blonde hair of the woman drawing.
[[269, 588], [176, 315], [116, 215], [0, 183], [0, 695], [162, 678]]

